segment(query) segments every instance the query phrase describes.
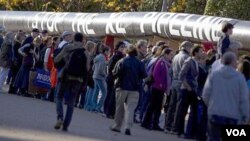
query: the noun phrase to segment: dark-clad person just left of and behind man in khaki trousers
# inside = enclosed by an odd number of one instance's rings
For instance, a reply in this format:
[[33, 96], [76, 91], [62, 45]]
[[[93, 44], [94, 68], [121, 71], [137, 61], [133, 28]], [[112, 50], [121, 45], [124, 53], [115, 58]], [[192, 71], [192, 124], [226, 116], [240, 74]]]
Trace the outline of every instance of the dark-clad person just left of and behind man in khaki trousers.
[[108, 77], [107, 77], [107, 98], [104, 103], [104, 113], [106, 117], [113, 119], [115, 116], [115, 86], [114, 86], [114, 76], [113, 69], [116, 63], [125, 56], [125, 43], [120, 41], [115, 46], [115, 54], [111, 57], [108, 63]]

